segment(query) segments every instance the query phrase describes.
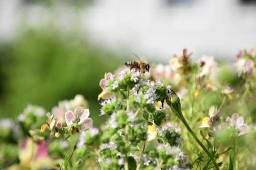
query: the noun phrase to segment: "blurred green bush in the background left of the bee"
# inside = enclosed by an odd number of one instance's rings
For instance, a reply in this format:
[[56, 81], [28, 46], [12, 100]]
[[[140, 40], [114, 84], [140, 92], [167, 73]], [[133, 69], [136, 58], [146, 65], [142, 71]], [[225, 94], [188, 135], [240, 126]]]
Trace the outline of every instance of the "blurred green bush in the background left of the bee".
[[120, 63], [120, 57], [79, 35], [28, 30], [0, 46], [1, 116], [14, 117], [28, 103], [50, 111], [59, 100], [80, 93], [89, 101], [92, 117], [98, 117], [98, 82]]

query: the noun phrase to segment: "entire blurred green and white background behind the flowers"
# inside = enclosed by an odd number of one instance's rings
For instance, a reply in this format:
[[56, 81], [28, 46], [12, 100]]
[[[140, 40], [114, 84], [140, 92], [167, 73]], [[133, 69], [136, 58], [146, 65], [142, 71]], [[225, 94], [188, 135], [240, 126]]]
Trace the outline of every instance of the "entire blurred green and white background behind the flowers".
[[[255, 0], [0, 0], [0, 117], [83, 94], [97, 120], [99, 80], [137, 53], [231, 62], [256, 44]], [[99, 121], [96, 121], [99, 123]]]

